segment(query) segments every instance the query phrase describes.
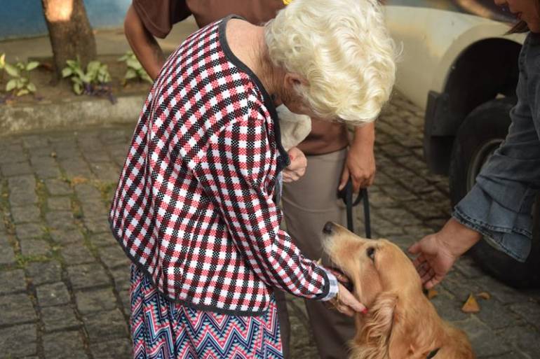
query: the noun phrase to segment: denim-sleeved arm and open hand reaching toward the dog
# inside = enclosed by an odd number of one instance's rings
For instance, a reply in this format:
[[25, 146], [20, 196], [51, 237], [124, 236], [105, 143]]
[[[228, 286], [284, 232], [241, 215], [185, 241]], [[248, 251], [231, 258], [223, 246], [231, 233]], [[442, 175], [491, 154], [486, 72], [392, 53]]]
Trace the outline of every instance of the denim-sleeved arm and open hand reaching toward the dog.
[[[518, 97], [523, 88], [518, 87]], [[540, 89], [536, 91], [540, 93]], [[531, 108], [518, 101], [504, 143], [482, 167], [476, 184], [436, 234], [410, 248], [427, 288], [439, 283], [457, 258], [482, 237], [515, 260], [525, 261], [532, 241], [532, 204], [540, 187], [540, 141]]]

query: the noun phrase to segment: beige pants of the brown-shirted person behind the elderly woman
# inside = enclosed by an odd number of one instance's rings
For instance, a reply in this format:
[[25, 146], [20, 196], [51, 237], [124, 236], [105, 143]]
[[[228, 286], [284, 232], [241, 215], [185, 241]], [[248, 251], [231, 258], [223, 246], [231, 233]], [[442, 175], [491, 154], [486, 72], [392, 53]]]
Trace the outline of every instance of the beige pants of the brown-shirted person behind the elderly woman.
[[[307, 257], [317, 260], [323, 253], [321, 234], [329, 220], [346, 225], [346, 209], [337, 199], [337, 186], [346, 160], [346, 149], [326, 155], [307, 156], [306, 174], [298, 181], [285, 183], [282, 206], [287, 231]], [[276, 291], [285, 358], [290, 328], [283, 293]], [[346, 345], [354, 335], [353, 319], [327, 309], [322, 302], [306, 300], [311, 329], [320, 358], [348, 358]], [[295, 359], [295, 358], [291, 358]]]

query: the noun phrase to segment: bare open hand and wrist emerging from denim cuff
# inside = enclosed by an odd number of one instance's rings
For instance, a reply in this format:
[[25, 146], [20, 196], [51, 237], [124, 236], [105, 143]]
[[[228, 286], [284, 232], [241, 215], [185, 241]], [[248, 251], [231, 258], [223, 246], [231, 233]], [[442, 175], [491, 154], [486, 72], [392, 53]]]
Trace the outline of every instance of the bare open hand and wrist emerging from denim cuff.
[[450, 218], [442, 230], [429, 234], [409, 248], [418, 257], [412, 262], [429, 289], [443, 280], [454, 262], [482, 238], [480, 233]]

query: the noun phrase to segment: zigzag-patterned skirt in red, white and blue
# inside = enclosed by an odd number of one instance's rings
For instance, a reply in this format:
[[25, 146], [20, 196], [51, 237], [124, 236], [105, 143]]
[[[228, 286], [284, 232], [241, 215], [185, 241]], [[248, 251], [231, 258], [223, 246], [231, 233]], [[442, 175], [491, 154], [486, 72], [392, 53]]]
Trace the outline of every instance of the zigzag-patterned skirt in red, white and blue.
[[262, 316], [232, 316], [169, 302], [131, 266], [136, 359], [283, 359], [276, 302]]

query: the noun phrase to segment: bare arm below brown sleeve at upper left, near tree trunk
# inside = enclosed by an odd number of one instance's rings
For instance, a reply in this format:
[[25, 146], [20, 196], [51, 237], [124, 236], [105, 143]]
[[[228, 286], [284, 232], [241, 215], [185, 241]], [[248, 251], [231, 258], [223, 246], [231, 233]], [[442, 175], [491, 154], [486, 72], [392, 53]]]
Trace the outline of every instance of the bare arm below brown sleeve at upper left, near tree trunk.
[[135, 56], [150, 78], [156, 80], [161, 66], [165, 63], [165, 56], [156, 38], [144, 27], [133, 5], [128, 8], [123, 27]]

